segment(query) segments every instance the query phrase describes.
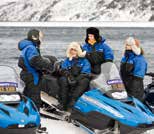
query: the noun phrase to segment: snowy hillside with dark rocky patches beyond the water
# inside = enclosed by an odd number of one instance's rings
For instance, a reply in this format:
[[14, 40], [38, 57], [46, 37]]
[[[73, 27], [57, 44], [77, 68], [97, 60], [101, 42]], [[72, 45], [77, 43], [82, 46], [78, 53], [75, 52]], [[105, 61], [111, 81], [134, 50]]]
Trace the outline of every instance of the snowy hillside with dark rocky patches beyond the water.
[[1, 0], [0, 21], [149, 21], [151, 0]]

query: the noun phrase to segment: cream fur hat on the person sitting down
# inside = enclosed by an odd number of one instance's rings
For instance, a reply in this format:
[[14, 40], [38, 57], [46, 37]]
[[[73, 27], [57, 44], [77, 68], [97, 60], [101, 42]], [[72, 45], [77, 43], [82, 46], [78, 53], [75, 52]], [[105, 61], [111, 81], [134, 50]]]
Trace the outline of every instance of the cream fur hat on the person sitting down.
[[72, 60], [72, 58], [73, 58], [70, 53], [71, 49], [75, 49], [77, 51], [78, 57], [85, 57], [85, 55], [86, 55], [86, 51], [82, 51], [81, 46], [78, 42], [71, 42], [67, 48], [67, 51], [66, 51], [66, 55], [69, 58], [69, 60]]

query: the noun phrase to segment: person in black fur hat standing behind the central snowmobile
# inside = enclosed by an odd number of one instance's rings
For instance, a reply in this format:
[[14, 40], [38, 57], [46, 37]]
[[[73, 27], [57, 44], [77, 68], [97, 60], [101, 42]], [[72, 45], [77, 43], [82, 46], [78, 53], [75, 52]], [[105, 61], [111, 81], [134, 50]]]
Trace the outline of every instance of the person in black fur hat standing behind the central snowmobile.
[[101, 73], [101, 64], [112, 62], [114, 59], [112, 49], [106, 44], [104, 37], [101, 37], [99, 30], [89, 27], [86, 30], [85, 44], [82, 49], [86, 51], [86, 58], [91, 64], [92, 73]]

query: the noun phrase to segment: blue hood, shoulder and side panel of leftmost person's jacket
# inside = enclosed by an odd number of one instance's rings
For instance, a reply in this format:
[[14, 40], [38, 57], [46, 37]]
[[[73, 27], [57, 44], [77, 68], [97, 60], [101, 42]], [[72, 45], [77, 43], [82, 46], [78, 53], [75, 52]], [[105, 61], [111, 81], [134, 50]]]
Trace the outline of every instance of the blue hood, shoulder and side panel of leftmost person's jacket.
[[37, 70], [30, 65], [30, 60], [34, 56], [39, 56], [40, 53], [36, 47], [36, 44], [32, 41], [29, 40], [22, 40], [18, 44], [19, 49], [21, 50], [21, 57], [24, 59], [24, 64], [27, 68], [27, 71], [29, 73], [32, 73], [33, 78], [34, 78], [34, 84], [37, 85], [39, 81], [39, 73]]

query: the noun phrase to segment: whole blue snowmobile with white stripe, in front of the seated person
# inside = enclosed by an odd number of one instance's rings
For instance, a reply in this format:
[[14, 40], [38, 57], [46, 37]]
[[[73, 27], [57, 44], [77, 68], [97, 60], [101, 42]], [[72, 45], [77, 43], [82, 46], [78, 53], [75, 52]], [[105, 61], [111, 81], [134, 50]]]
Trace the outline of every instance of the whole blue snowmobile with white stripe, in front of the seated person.
[[[90, 134], [141, 133], [154, 126], [154, 114], [138, 99], [128, 96], [114, 63], [101, 65], [101, 74], [90, 83], [90, 89], [78, 98], [71, 112], [57, 108], [57, 79], [46, 76], [53, 83], [41, 93], [44, 102], [42, 115], [67, 120]], [[58, 85], [58, 84], [57, 84]], [[47, 94], [50, 93], [50, 94]]]

